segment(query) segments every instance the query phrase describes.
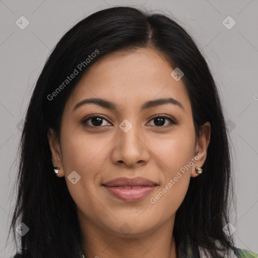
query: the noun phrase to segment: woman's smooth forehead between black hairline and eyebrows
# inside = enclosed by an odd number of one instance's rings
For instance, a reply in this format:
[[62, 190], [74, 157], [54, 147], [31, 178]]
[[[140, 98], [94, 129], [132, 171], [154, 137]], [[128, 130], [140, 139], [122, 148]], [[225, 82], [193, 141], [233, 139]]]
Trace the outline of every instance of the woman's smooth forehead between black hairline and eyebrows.
[[175, 81], [170, 75], [172, 71], [162, 53], [152, 48], [115, 51], [87, 70], [68, 104], [74, 107], [85, 98], [102, 98], [128, 109], [149, 100], [171, 97], [191, 111], [183, 81]]

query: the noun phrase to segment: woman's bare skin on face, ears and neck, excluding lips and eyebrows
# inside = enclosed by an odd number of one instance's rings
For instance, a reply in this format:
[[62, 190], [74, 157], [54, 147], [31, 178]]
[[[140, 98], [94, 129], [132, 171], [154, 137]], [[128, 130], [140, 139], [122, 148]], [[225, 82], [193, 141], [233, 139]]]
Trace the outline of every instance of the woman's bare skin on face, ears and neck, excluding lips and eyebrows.
[[[190, 177], [199, 175], [195, 167], [205, 162], [211, 127], [206, 122], [196, 137], [189, 97], [182, 80], [170, 76], [172, 71], [162, 54], [152, 48], [110, 53], [90, 67], [67, 101], [60, 143], [49, 130], [52, 163], [60, 168], [57, 176], [66, 178], [77, 205], [87, 257], [176, 257], [175, 213]], [[183, 109], [164, 104], [140, 111], [146, 101], [167, 97], [181, 102]], [[73, 110], [88, 98], [106, 99], [117, 109], [85, 104]], [[94, 119], [83, 124], [82, 120], [92, 114], [103, 115], [106, 120], [95, 127]], [[166, 119], [159, 125], [152, 119], [157, 114], [176, 119], [178, 124]], [[127, 133], [119, 127], [124, 119], [133, 125]], [[150, 198], [198, 153], [199, 160], [152, 204]], [[68, 179], [72, 171], [81, 176], [76, 184]], [[158, 184], [150, 195], [136, 202], [116, 199], [102, 186], [117, 177], [136, 176]], [[131, 232], [124, 234], [121, 226]]]

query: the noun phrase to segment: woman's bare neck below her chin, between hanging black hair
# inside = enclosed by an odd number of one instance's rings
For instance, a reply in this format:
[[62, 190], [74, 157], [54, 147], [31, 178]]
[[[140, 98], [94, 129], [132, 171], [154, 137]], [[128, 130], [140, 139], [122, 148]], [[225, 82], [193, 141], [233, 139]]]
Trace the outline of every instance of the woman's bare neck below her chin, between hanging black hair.
[[150, 232], [122, 235], [103, 230], [91, 220], [78, 216], [81, 225], [81, 246], [86, 257], [176, 258], [172, 235], [174, 217]]

